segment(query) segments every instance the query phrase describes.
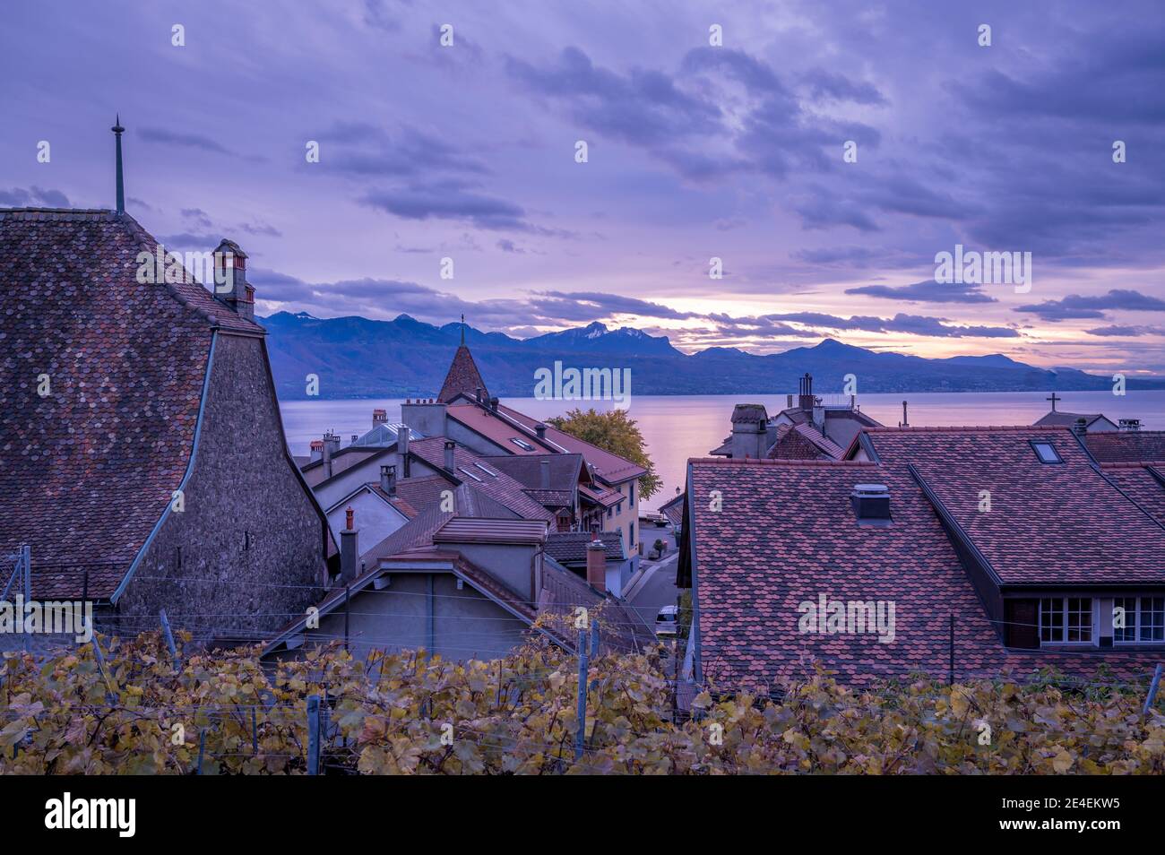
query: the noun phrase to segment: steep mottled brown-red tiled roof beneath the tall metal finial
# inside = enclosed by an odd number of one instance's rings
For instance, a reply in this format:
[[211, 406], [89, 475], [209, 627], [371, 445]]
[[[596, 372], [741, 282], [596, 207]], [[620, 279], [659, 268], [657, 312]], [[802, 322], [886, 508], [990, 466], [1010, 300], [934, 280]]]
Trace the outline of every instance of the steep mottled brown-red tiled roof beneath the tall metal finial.
[[110, 211], [0, 211], [0, 553], [31, 545], [38, 596], [85, 567], [114, 592], [185, 473], [211, 333], [263, 333], [196, 282], [139, 283], [156, 243]]

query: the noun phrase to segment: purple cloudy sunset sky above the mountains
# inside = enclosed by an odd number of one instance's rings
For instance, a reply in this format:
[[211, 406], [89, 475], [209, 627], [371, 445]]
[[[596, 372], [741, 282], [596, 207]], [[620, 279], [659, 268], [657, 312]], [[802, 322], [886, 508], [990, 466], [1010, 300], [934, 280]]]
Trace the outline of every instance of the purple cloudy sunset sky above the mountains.
[[54, 0], [0, 66], [0, 206], [112, 207], [120, 114], [129, 213], [261, 315], [1165, 375], [1159, 0]]

